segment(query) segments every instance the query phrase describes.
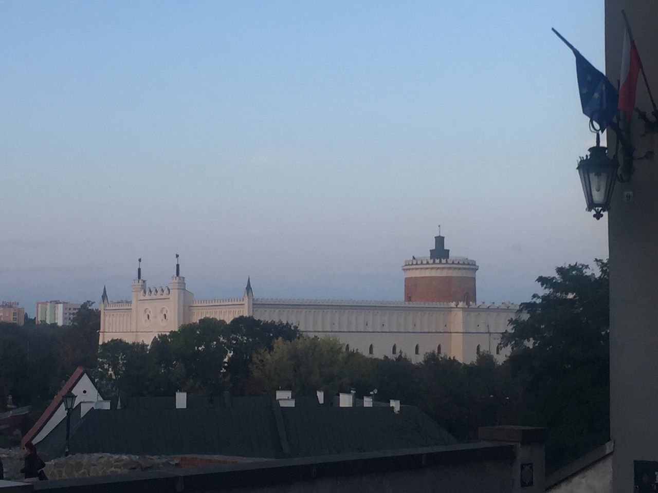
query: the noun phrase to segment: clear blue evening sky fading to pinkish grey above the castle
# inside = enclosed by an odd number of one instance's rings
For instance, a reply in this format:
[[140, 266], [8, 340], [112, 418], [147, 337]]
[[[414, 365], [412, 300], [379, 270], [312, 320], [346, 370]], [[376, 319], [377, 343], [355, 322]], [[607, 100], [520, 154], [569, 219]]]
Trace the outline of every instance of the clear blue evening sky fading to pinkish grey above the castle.
[[603, 1], [0, 3], [0, 300], [402, 300], [441, 225], [478, 301], [607, 258], [572, 53]]

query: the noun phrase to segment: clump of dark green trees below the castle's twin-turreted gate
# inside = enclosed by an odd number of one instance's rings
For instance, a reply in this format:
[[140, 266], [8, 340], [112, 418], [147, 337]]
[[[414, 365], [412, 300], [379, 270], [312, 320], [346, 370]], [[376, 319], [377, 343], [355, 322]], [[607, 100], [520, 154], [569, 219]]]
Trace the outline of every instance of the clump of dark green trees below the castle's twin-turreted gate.
[[[145, 344], [110, 340], [101, 344], [93, 371], [101, 395], [133, 396], [243, 394], [252, 355], [272, 350], [274, 340], [299, 337], [290, 323], [238, 317], [226, 323], [203, 318]], [[105, 392], [105, 393], [103, 393]]]

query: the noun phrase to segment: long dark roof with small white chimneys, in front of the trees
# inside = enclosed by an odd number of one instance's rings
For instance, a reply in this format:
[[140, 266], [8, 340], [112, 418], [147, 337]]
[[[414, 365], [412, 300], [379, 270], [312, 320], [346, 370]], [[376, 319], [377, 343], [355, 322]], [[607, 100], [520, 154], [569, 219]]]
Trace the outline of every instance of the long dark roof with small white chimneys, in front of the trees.
[[195, 408], [189, 397], [186, 409], [154, 402], [139, 398], [134, 403], [145, 407], [89, 411], [72, 429], [71, 452], [285, 458], [457, 443], [414, 406], [395, 413], [390, 407], [280, 408], [258, 397], [231, 398], [231, 407]]

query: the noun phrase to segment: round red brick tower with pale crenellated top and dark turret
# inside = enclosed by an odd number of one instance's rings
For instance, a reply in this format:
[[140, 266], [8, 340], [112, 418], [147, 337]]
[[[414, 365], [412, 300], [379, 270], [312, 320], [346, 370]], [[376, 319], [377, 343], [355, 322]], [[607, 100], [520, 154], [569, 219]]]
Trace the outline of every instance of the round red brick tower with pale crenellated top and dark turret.
[[450, 258], [445, 238], [434, 237], [435, 247], [428, 257], [406, 260], [405, 301], [471, 304], [476, 302], [475, 273], [478, 266], [468, 258]]

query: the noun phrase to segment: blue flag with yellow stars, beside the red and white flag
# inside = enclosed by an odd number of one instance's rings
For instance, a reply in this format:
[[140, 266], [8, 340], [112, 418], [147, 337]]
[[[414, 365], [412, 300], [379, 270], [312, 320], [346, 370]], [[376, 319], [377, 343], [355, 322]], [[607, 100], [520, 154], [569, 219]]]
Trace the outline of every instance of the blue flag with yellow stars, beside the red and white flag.
[[574, 50], [574, 55], [582, 112], [592, 118], [603, 131], [617, 114], [619, 93], [607, 77], [596, 70], [578, 51]]

